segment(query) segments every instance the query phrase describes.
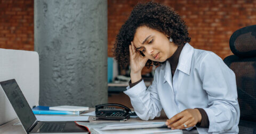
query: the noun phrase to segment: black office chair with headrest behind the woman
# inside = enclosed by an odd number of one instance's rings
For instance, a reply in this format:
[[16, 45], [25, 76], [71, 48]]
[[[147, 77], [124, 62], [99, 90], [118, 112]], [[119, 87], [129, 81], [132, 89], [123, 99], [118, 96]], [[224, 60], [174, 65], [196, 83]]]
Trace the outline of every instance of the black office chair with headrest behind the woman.
[[234, 55], [224, 62], [236, 74], [239, 133], [256, 133], [256, 25], [235, 31], [229, 46]]

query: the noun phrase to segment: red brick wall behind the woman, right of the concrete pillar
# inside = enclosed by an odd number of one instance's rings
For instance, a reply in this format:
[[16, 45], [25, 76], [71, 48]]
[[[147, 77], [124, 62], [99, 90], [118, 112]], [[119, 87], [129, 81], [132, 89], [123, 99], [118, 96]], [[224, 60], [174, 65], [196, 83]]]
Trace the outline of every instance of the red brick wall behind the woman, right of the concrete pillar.
[[[232, 55], [229, 38], [239, 28], [256, 24], [256, 1], [162, 0], [188, 25], [191, 46], [210, 50], [222, 59]], [[108, 56], [113, 57], [116, 34], [128, 18], [135, 0], [108, 0]]]

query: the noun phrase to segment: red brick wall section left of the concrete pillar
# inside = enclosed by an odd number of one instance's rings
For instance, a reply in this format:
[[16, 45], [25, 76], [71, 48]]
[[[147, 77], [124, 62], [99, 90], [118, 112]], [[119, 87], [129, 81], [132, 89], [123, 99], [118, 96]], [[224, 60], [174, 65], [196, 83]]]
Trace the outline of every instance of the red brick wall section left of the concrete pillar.
[[0, 48], [34, 50], [34, 0], [0, 0]]

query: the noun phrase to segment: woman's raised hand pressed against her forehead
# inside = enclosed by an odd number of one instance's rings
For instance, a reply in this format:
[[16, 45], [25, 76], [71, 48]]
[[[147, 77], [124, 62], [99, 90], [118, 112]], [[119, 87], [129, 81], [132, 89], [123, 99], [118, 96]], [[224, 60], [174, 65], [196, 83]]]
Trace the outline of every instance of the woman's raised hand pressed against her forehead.
[[141, 79], [141, 70], [146, 65], [148, 58], [143, 57], [139, 51], [135, 50], [133, 42], [129, 45], [130, 51], [130, 67], [131, 67], [131, 82], [137, 82]]

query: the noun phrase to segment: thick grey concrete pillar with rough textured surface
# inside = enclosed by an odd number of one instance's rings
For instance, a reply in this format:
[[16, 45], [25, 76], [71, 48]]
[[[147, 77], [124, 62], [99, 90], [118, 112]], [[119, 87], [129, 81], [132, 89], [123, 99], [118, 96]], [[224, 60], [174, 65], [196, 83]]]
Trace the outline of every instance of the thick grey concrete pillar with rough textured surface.
[[39, 105], [107, 103], [107, 0], [34, 0]]

